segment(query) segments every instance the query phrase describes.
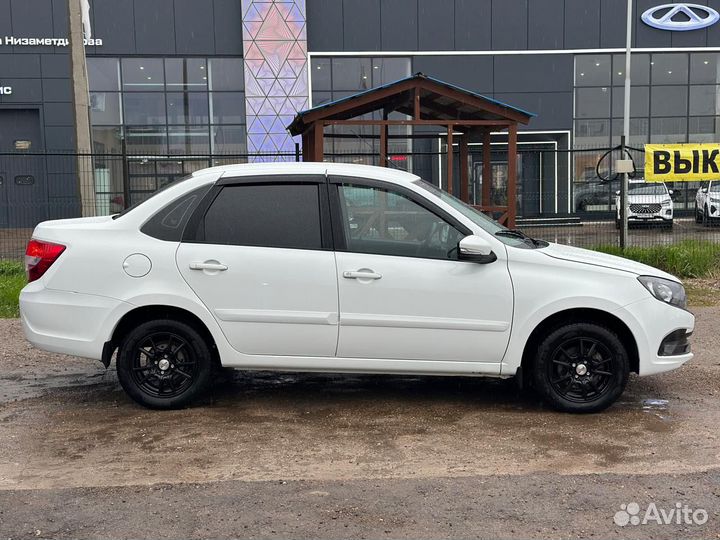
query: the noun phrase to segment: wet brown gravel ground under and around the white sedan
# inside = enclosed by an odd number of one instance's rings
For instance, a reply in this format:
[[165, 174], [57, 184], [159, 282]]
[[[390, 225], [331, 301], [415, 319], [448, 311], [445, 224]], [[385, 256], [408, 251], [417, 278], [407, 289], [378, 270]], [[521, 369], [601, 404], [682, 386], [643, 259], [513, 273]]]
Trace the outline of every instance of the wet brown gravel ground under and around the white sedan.
[[[230, 372], [183, 411], [0, 320], [0, 537], [720, 538], [720, 307], [604, 413], [510, 381]], [[705, 524], [614, 524], [621, 504]]]

